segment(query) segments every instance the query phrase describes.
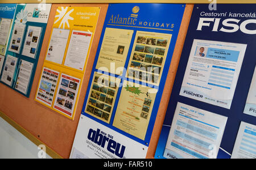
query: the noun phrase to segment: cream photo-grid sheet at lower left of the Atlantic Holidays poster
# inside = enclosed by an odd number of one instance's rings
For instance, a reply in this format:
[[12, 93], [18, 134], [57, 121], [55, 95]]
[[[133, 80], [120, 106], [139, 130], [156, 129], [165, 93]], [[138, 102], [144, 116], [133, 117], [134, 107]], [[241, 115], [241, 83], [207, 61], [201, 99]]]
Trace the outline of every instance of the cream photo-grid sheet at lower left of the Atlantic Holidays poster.
[[119, 78], [94, 72], [85, 112], [109, 123], [119, 82]]

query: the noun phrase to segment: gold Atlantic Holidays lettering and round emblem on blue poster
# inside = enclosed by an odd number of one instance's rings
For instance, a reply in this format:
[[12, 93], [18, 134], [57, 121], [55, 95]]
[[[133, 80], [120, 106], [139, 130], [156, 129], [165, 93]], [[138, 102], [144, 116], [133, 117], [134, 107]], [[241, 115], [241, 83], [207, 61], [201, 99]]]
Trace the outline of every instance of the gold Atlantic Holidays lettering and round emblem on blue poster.
[[[171, 23], [162, 23], [148, 20], [139, 20], [139, 6], [134, 6], [132, 14], [130, 16], [122, 16], [121, 14], [111, 15], [109, 19], [109, 24], [122, 24], [126, 26], [143, 26], [143, 27], [152, 27], [152, 28], [174, 28], [174, 24]], [[147, 9], [148, 10], [148, 9]]]

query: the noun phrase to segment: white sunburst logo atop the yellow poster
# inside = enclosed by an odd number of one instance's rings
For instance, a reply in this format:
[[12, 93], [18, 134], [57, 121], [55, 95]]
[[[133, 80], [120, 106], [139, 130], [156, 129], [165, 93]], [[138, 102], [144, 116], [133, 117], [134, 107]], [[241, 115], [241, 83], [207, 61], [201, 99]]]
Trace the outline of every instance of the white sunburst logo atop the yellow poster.
[[68, 11], [68, 7], [61, 7], [61, 10], [57, 9], [57, 13], [59, 13], [58, 15], [55, 15], [55, 18], [57, 18], [55, 20], [54, 23], [57, 23], [61, 20], [59, 28], [62, 26], [62, 28], [65, 28], [65, 25], [67, 24], [67, 27], [69, 28], [69, 22], [68, 20], [74, 20], [74, 18], [72, 18], [71, 16], [69, 16], [74, 9]]

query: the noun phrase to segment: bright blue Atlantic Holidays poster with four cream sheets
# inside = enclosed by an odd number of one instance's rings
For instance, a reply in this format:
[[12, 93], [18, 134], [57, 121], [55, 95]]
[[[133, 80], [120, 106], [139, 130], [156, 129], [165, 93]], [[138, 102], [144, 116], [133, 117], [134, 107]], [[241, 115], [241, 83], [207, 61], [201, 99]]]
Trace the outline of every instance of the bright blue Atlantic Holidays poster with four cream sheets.
[[[140, 157], [146, 157], [184, 8], [157, 3], [108, 7], [82, 116], [104, 126], [102, 131], [114, 130], [120, 140], [129, 138], [144, 146]], [[73, 148], [97, 157], [80, 142], [75, 140]]]

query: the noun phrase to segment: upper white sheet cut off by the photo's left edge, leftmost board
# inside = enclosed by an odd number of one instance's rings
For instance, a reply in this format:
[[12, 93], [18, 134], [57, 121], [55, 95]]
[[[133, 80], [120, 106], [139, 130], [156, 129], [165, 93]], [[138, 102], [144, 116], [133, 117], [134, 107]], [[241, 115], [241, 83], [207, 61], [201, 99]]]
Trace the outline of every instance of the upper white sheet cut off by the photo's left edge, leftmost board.
[[8, 34], [10, 31], [11, 19], [2, 18], [0, 25], [0, 45], [6, 45]]

